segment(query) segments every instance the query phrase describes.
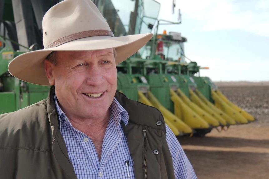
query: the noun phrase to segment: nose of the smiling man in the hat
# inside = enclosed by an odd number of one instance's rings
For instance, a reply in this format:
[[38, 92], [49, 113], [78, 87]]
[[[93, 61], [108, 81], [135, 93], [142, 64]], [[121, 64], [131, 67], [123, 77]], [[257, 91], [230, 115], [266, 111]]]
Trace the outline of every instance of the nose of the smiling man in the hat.
[[103, 83], [103, 72], [102, 69], [98, 67], [98, 65], [89, 65], [86, 71], [86, 83], [87, 85], [98, 86]]

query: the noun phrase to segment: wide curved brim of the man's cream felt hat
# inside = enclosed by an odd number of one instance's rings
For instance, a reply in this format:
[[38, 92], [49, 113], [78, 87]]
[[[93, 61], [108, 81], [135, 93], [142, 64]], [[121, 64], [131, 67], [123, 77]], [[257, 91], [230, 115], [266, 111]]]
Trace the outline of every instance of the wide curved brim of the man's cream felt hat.
[[8, 64], [8, 71], [22, 81], [50, 86], [46, 77], [44, 60], [53, 51], [85, 51], [115, 48], [116, 65], [135, 54], [153, 34], [136, 34], [120, 37], [94, 36], [73, 40], [57, 47], [27, 52]]

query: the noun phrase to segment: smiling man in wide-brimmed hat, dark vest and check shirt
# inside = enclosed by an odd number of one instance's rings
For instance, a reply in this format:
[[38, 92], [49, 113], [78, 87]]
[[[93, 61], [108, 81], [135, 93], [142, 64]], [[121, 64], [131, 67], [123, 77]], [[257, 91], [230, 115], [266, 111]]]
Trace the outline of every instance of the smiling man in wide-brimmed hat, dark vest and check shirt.
[[116, 65], [151, 37], [114, 37], [90, 0], [52, 7], [45, 49], [9, 64], [13, 76], [52, 87], [0, 116], [1, 178], [196, 178], [160, 112], [116, 92]]

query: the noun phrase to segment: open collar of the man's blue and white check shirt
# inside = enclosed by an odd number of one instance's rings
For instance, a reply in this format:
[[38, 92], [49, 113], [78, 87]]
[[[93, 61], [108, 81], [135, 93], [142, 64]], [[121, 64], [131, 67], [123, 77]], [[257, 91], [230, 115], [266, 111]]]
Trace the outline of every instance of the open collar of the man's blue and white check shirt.
[[[60, 121], [60, 130], [61, 130], [61, 126], [62, 126], [62, 121], [64, 119], [67, 119], [65, 113], [62, 111], [61, 107], [58, 104], [58, 100], [56, 97], [56, 93], [54, 95], [54, 100], [55, 100], [55, 104], [56, 104], [56, 108], [57, 108], [57, 112], [59, 115], [59, 121]], [[111, 111], [111, 115], [112, 118], [115, 122], [115, 124], [120, 125], [120, 121], [122, 120], [122, 122], [124, 123], [124, 125], [126, 126], [129, 122], [129, 115], [128, 112], [120, 105], [120, 103], [116, 100], [116, 98], [114, 97], [112, 104], [110, 106], [110, 111]], [[111, 119], [111, 117], [110, 117]], [[66, 122], [68, 121], [68, 123], [71, 125], [70, 121], [67, 119]], [[63, 121], [64, 122], [64, 121]]]

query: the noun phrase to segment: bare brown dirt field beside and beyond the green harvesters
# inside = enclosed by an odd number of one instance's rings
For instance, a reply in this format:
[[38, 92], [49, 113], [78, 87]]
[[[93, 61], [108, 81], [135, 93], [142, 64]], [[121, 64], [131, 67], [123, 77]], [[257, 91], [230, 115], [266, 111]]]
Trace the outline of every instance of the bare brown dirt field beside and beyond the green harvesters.
[[269, 179], [269, 86], [223, 86], [220, 91], [257, 121], [203, 138], [179, 138], [198, 179]]

